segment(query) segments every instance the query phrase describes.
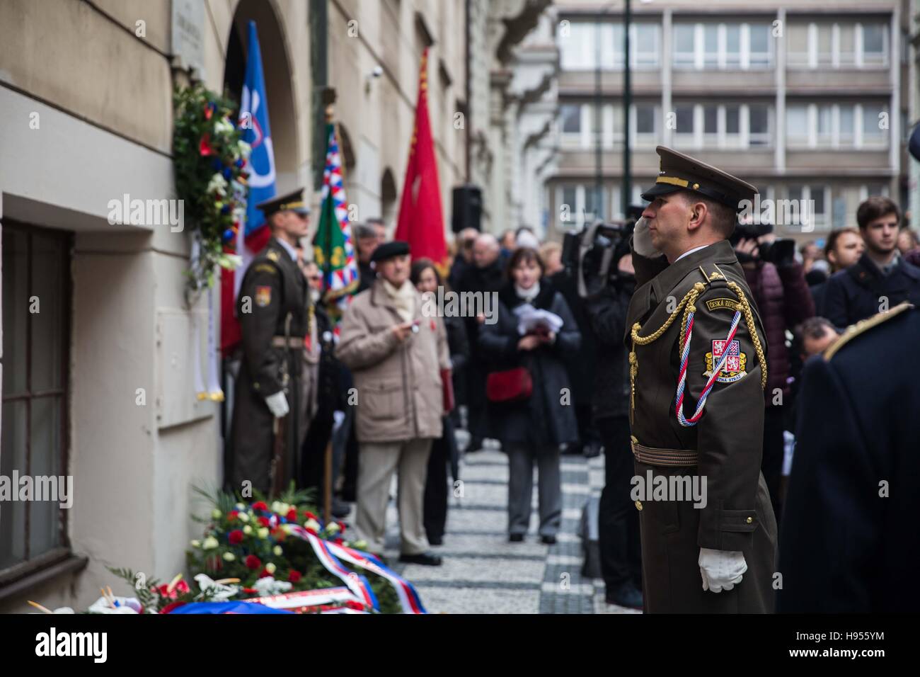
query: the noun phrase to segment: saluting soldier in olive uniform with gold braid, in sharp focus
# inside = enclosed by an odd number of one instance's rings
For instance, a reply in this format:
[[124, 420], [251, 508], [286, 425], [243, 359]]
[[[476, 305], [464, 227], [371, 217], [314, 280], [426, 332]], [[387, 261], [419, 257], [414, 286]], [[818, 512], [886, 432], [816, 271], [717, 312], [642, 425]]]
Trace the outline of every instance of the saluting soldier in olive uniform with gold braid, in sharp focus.
[[[636, 500], [645, 611], [768, 613], [776, 519], [760, 472], [766, 344], [728, 241], [757, 190], [657, 150], [661, 172], [633, 237], [638, 288], [626, 335], [634, 495], [639, 478], [646, 487]], [[691, 496], [694, 482], [705, 483], [696, 496], [705, 500]]]

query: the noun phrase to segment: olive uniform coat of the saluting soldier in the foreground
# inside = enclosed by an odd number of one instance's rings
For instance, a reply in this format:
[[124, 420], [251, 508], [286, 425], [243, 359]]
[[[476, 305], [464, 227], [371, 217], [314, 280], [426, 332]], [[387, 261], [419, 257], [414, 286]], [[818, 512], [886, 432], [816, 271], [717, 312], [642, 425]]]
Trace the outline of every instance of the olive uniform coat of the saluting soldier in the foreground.
[[[764, 435], [762, 376], [751, 327], [742, 319], [730, 344], [730, 361], [709, 391], [696, 426], [684, 426], [675, 411], [680, 378], [680, 336], [684, 309], [653, 341], [634, 347], [631, 336], [656, 333], [699, 283], [684, 388], [684, 416], [693, 417], [708, 373], [730, 333], [739, 303], [747, 298], [765, 361], [765, 334], [741, 265], [727, 240], [669, 265], [661, 256], [633, 252], [637, 289], [627, 311], [627, 349], [633, 372], [632, 426], [634, 452], [645, 448], [696, 451], [696, 465], [662, 466], [636, 461], [636, 475], [652, 485], [665, 480], [674, 489], [705, 485], [705, 507], [685, 491], [676, 499], [655, 500], [652, 487], [639, 494], [636, 507], [642, 536], [642, 574], [647, 613], [768, 613], [774, 608], [776, 519], [760, 472]], [[713, 276], [715, 274], [715, 276]], [[735, 288], [732, 288], [734, 283]], [[718, 343], [715, 343], [718, 342]], [[715, 355], [713, 355], [715, 353]], [[708, 372], [708, 373], [707, 373]], [[648, 457], [645, 457], [648, 458]], [[658, 476], [664, 479], [658, 480]], [[670, 478], [675, 478], [672, 480]], [[676, 480], [676, 478], [685, 478]], [[633, 487], [634, 496], [641, 485]], [[662, 498], [664, 496], [657, 496]], [[698, 566], [700, 547], [741, 551], [747, 563], [742, 582], [732, 590], [704, 591]]]

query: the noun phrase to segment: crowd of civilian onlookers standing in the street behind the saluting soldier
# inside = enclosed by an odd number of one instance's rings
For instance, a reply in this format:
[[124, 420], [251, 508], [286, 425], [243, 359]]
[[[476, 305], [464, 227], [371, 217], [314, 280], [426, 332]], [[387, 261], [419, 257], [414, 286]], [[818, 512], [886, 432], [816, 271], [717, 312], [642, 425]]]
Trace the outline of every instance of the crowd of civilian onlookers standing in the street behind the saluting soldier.
[[[857, 227], [831, 231], [779, 261], [759, 255], [775, 234], [735, 244], [765, 331], [763, 471], [777, 519], [796, 425], [790, 404], [804, 360], [848, 325], [904, 300], [920, 304], [920, 243], [901, 226], [897, 204], [871, 197], [856, 220]], [[633, 470], [623, 335], [635, 289], [628, 247], [617, 250], [611, 284], [581, 298], [562, 247], [529, 228], [500, 237], [467, 228], [450, 244], [443, 267], [413, 260], [406, 243], [387, 241], [382, 221], [352, 228], [363, 293], [345, 312], [335, 350], [340, 394], [328, 407], [328, 427], [336, 511], [344, 514], [345, 502], [356, 501], [358, 531], [382, 552], [397, 473], [402, 556], [440, 564], [430, 546], [443, 543], [448, 496], [461, 479], [455, 433], [462, 428], [469, 440], [464, 452], [494, 439], [508, 454], [509, 540], [521, 542], [529, 531], [536, 468], [538, 535], [555, 543], [560, 455], [603, 452], [607, 486], [599, 520], [607, 597], [640, 606], [638, 519], [628, 500]], [[316, 267], [305, 267], [305, 274], [318, 290]], [[439, 287], [494, 295], [496, 314], [488, 321], [483, 313], [426, 315], [423, 295]], [[356, 393], [357, 407], [348, 393]], [[315, 456], [318, 446], [305, 455]]]

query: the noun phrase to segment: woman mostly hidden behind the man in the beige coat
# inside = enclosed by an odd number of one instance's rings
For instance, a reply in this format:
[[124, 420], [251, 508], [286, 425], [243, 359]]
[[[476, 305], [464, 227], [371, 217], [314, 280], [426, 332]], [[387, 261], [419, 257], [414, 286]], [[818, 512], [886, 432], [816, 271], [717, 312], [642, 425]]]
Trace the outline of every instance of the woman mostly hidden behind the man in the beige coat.
[[[438, 287], [444, 286], [441, 274], [431, 259], [419, 259], [412, 263], [409, 274], [412, 284], [422, 293], [438, 293]], [[447, 344], [451, 352], [451, 373], [454, 379], [458, 372], [466, 368], [469, 360], [469, 344], [466, 341], [466, 326], [463, 318], [443, 317], [444, 329], [447, 330]], [[431, 444], [428, 457], [428, 479], [425, 481], [424, 524], [428, 543], [441, 545], [444, 529], [447, 525], [447, 465], [451, 466], [454, 482], [457, 478], [459, 452], [454, 434], [454, 420], [449, 412], [443, 416], [443, 435]]]

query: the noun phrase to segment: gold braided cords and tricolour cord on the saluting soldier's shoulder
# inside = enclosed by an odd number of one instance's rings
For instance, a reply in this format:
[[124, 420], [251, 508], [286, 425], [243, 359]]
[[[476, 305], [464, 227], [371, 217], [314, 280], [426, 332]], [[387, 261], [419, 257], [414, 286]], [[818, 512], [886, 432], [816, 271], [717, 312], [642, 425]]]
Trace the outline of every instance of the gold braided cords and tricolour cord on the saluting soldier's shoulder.
[[[721, 275], [719, 274], [712, 274], [708, 279], [712, 280], [717, 276], [721, 278]], [[726, 286], [728, 286], [731, 291], [735, 293], [739, 300], [735, 306], [735, 314], [731, 319], [729, 335], [725, 341], [725, 345], [729, 346], [734, 340], [735, 334], [738, 333], [738, 326], [741, 323], [743, 314], [744, 321], [747, 323], [748, 332], [751, 334], [754, 352], [757, 354], [757, 361], [761, 367], [761, 387], [766, 388], [766, 359], [764, 356], [763, 348], [760, 344], [760, 338], [757, 335], [756, 326], [753, 321], [753, 312], [751, 310], [751, 306], [748, 303], [747, 298], [744, 296], [744, 292], [738, 283], [728, 281]], [[668, 319], [664, 321], [661, 327], [647, 336], [639, 335], [639, 333], [642, 331], [642, 327], [638, 322], [633, 324], [632, 331], [630, 333], [630, 338], [632, 338], [633, 346], [632, 351], [629, 353], [630, 411], [636, 407], [636, 376], [638, 374], [638, 356], [636, 354], [636, 346], [648, 345], [661, 338], [661, 336], [668, 331], [673, 322], [683, 311], [684, 316], [683, 320], [681, 321], [680, 342], [678, 344], [681, 351], [680, 376], [677, 379], [677, 391], [674, 396], [674, 412], [677, 415], [678, 423], [684, 427], [696, 426], [696, 424], [699, 422], [699, 419], [703, 416], [703, 409], [706, 407], [707, 397], [712, 391], [712, 387], [716, 384], [717, 379], [719, 379], [719, 374], [721, 374], [722, 369], [725, 368], [730, 354], [728, 349], [723, 350], [721, 356], [719, 356], [719, 361], [713, 367], [712, 373], [709, 375], [706, 386], [700, 393], [699, 400], [696, 403], [696, 411], [689, 418], [684, 416], [684, 394], [686, 386], [687, 365], [690, 358], [690, 339], [693, 336], [694, 315], [696, 314], [696, 299], [699, 298], [699, 295], [702, 294], [705, 290], [706, 285], [702, 282], [697, 282], [693, 288], [690, 289], [686, 295], [684, 295], [684, 298], [677, 305], [677, 308], [673, 310], [671, 315], [668, 316]]]

